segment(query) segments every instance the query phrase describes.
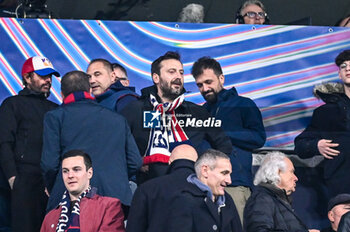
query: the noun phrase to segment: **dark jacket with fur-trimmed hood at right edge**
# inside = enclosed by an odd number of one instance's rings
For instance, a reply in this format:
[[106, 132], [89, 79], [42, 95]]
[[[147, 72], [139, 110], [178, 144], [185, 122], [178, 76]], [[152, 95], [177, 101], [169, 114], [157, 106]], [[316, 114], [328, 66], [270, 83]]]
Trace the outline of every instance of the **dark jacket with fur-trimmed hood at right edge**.
[[311, 158], [321, 155], [317, 148], [319, 140], [339, 143], [335, 149], [340, 154], [324, 160], [324, 178], [345, 178], [350, 169], [350, 99], [341, 83], [318, 85], [314, 94], [326, 104], [314, 110], [310, 124], [295, 138], [295, 152], [301, 158]]

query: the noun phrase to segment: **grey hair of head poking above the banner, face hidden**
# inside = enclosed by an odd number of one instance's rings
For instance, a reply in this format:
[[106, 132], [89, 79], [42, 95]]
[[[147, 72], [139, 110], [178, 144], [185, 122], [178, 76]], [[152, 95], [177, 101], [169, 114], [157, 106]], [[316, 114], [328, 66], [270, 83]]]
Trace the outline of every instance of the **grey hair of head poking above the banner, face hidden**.
[[203, 23], [204, 7], [195, 3], [188, 4], [180, 12], [177, 21], [183, 23]]

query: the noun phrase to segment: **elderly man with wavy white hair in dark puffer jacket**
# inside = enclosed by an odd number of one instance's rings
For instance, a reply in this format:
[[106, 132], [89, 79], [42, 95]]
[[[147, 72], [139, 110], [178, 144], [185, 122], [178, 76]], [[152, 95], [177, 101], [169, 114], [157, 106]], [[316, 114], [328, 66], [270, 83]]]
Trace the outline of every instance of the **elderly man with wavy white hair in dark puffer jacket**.
[[292, 209], [289, 196], [297, 181], [289, 158], [281, 152], [268, 153], [255, 175], [256, 188], [244, 209], [245, 231], [319, 231], [308, 230]]

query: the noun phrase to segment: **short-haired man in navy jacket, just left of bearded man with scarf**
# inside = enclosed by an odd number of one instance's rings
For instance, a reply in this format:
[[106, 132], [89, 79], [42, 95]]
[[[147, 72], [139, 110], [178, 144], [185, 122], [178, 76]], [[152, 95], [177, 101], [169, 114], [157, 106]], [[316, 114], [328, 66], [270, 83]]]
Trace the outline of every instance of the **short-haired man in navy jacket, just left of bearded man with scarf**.
[[[90, 76], [91, 92], [100, 105], [119, 113], [130, 102], [138, 99], [134, 89], [121, 83], [124, 81], [121, 78], [127, 79], [126, 73], [114, 72], [113, 65], [108, 60], [92, 60], [86, 72]], [[120, 76], [117, 77], [116, 74]]]

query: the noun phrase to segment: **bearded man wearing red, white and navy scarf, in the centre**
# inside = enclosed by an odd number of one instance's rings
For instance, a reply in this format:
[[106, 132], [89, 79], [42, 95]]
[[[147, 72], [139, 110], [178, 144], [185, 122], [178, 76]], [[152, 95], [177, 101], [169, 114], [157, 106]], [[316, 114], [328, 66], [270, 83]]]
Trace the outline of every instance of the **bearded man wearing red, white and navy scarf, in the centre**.
[[[230, 154], [232, 145], [218, 126], [221, 122], [211, 118], [202, 106], [184, 100], [180, 55], [167, 52], [160, 56], [152, 63], [151, 73], [154, 85], [142, 89], [141, 98], [121, 112], [143, 155], [138, 183], [164, 175], [172, 149], [182, 143], [191, 144], [201, 154], [206, 140], [212, 148]], [[207, 127], [205, 120], [210, 123]]]

